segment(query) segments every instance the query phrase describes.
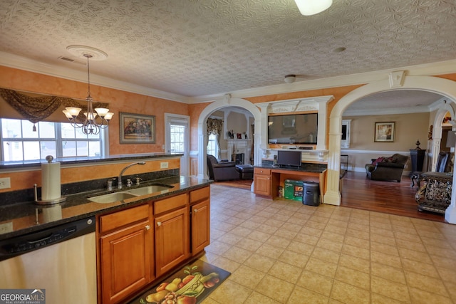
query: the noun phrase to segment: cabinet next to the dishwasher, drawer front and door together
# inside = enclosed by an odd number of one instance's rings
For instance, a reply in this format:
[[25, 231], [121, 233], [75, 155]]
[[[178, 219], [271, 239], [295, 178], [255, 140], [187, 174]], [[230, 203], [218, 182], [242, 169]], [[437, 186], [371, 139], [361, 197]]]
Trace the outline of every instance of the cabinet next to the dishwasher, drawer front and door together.
[[101, 303], [120, 303], [154, 276], [150, 204], [100, 216]]

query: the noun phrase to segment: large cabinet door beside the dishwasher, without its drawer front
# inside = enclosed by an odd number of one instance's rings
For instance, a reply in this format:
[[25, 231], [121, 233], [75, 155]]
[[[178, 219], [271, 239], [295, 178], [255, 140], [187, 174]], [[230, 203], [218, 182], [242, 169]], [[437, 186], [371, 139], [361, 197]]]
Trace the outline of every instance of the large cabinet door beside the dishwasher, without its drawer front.
[[148, 220], [101, 236], [103, 303], [118, 303], [152, 280], [152, 245]]

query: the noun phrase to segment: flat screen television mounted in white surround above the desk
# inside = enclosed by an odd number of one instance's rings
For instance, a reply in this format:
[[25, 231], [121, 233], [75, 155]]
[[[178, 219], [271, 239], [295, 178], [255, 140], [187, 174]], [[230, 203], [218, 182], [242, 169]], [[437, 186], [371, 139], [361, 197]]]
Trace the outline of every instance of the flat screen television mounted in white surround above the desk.
[[268, 143], [316, 145], [318, 113], [268, 116]]

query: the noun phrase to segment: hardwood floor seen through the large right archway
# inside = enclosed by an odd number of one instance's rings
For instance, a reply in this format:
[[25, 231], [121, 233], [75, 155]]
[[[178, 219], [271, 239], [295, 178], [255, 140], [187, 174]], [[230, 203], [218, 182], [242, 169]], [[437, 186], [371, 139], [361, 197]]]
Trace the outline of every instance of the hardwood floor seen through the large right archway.
[[418, 211], [416, 187], [410, 187], [408, 177], [400, 183], [383, 182], [371, 181], [363, 172], [347, 172], [343, 179], [341, 206], [445, 222], [443, 214]]

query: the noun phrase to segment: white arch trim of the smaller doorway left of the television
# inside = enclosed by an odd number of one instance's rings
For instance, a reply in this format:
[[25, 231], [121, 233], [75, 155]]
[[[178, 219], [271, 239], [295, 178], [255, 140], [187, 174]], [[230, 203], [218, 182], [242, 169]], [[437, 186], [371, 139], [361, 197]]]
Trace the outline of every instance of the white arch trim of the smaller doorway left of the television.
[[[207, 178], [207, 165], [206, 165], [206, 121], [209, 115], [212, 112], [226, 108], [226, 107], [238, 107], [244, 108], [252, 113], [254, 116], [255, 127], [254, 127], [254, 147], [259, 147], [261, 142], [261, 135], [259, 135], [259, 130], [261, 130], [261, 112], [259, 108], [249, 100], [241, 98], [231, 98], [230, 95], [225, 95], [221, 100], [215, 100], [214, 103], [207, 105], [198, 118], [198, 177]], [[259, 155], [259, 149], [254, 149], [254, 164], [259, 164], [261, 162], [261, 157]]]

